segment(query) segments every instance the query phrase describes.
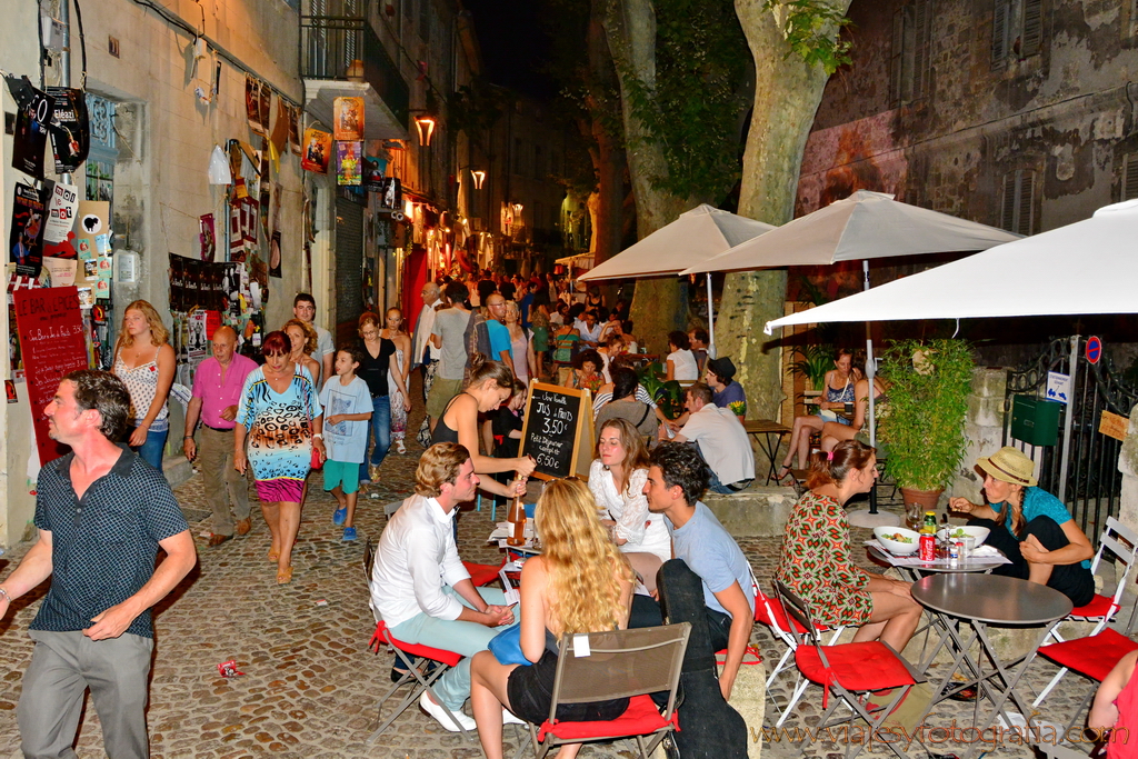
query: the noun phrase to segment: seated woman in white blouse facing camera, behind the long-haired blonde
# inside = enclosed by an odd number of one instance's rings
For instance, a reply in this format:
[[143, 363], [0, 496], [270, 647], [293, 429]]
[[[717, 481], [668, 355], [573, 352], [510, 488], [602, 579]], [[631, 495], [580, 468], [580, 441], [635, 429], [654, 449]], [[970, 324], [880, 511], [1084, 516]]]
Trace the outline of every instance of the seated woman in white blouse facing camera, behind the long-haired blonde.
[[[610, 407], [619, 402], [613, 402]], [[671, 559], [671, 535], [663, 514], [648, 510], [648, 447], [627, 419], [610, 419], [596, 435], [596, 459], [588, 470], [588, 489], [596, 498], [601, 523], [628, 563], [655, 589], [660, 564]]]

